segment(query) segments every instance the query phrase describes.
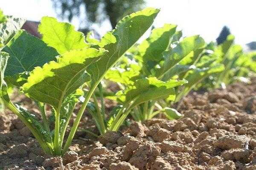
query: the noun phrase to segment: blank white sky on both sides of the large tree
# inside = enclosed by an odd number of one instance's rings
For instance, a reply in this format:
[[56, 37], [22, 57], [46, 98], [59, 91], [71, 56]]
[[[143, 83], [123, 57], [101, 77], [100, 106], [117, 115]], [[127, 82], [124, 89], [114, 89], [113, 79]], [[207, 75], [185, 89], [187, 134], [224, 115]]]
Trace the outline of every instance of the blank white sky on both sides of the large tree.
[[[226, 25], [236, 37], [236, 43], [244, 45], [256, 41], [256, 0], [148, 0], [147, 6], [161, 8], [154, 26], [164, 23], [177, 24], [184, 36], [200, 34], [207, 42], [218, 37]], [[0, 0], [4, 14], [40, 20], [43, 16], [56, 17], [51, 0]], [[72, 22], [79, 25], [78, 20]], [[109, 24], [99, 29], [108, 31]]]

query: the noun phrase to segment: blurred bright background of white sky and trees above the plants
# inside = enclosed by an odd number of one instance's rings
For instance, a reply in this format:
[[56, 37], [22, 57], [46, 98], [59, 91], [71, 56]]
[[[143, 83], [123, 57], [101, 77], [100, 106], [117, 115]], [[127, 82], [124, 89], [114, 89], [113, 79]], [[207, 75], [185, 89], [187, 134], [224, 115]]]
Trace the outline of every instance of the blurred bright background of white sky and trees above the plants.
[[43, 16], [70, 22], [84, 33], [93, 30], [99, 38], [125, 15], [154, 7], [161, 9], [154, 27], [177, 24], [183, 36], [200, 34], [218, 44], [233, 34], [245, 51], [256, 50], [255, 6], [254, 0], [0, 0], [4, 14], [25, 18], [23, 28], [38, 37]]

